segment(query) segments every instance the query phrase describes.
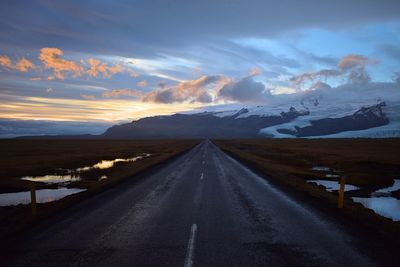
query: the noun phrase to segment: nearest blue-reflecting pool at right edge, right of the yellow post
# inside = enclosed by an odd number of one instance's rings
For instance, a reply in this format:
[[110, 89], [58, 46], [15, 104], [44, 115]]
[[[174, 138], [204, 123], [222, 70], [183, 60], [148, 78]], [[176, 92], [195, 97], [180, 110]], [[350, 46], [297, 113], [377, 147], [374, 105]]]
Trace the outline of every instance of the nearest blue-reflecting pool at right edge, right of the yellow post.
[[394, 197], [353, 197], [353, 201], [361, 203], [364, 207], [372, 209], [375, 213], [400, 221], [400, 200]]

